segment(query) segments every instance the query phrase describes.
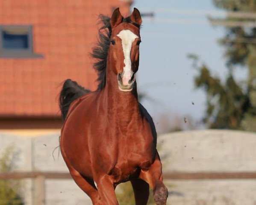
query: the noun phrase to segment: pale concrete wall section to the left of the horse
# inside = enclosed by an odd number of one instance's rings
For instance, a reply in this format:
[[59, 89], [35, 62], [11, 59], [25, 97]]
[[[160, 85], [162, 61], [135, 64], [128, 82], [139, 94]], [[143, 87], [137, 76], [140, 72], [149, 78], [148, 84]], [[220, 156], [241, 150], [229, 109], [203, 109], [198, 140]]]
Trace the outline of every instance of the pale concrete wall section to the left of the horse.
[[[0, 155], [7, 147], [15, 150], [14, 171], [59, 171], [68, 168], [59, 154], [59, 132], [37, 137], [24, 137], [0, 132]], [[59, 157], [58, 157], [59, 155]], [[53, 158], [54, 156], [54, 158]], [[35, 205], [32, 200], [33, 180], [22, 180], [21, 194], [26, 205]], [[91, 204], [88, 196], [79, 189], [72, 179], [46, 180], [46, 205]]]

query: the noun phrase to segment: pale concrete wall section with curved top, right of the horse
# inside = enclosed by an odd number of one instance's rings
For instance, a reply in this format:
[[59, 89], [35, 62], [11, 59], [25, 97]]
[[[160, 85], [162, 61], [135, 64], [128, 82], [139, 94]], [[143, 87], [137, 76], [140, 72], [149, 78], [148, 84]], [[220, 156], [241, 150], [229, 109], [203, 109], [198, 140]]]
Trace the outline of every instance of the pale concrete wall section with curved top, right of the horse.
[[[256, 171], [256, 133], [202, 130], [158, 138], [163, 171]], [[175, 205], [255, 205], [256, 180], [165, 180]]]

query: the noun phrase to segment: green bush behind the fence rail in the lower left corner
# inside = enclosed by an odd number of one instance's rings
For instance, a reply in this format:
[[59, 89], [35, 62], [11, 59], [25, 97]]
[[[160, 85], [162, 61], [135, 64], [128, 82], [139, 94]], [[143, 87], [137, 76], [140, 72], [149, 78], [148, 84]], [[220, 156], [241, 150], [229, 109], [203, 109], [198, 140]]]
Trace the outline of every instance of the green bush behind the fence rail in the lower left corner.
[[[13, 146], [8, 147], [0, 157], [0, 172], [6, 173], [12, 170], [14, 158]], [[2, 205], [24, 205], [18, 194], [19, 182], [12, 180], [0, 180], [0, 204]]]

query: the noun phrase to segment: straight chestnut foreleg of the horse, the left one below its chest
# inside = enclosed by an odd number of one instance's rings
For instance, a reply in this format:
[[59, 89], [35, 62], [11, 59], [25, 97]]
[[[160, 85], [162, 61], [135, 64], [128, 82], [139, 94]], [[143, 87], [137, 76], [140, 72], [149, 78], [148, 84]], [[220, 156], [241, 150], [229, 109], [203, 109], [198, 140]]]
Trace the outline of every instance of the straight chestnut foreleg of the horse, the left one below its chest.
[[109, 175], [98, 176], [96, 180], [100, 201], [103, 205], [118, 205], [115, 186]]

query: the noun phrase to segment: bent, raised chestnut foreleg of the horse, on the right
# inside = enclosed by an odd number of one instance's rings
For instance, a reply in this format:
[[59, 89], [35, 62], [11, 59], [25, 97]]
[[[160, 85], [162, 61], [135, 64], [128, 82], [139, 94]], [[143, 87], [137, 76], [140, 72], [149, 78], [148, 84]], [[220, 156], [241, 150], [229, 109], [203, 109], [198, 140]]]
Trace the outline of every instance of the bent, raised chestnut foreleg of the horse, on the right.
[[148, 170], [141, 170], [140, 179], [145, 180], [153, 189], [153, 197], [156, 205], [166, 205], [168, 190], [163, 183], [162, 163], [156, 152], [155, 161]]

